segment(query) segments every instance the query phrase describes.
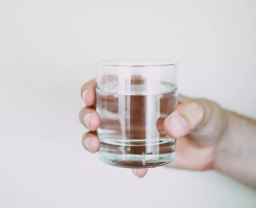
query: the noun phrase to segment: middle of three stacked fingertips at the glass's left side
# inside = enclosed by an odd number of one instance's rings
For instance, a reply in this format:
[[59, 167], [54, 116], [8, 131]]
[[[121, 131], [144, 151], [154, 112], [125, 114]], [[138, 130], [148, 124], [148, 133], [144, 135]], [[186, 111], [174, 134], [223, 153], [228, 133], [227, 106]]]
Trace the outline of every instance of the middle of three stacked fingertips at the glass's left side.
[[95, 131], [100, 126], [100, 116], [93, 108], [85, 107], [79, 113], [80, 122], [91, 131]]

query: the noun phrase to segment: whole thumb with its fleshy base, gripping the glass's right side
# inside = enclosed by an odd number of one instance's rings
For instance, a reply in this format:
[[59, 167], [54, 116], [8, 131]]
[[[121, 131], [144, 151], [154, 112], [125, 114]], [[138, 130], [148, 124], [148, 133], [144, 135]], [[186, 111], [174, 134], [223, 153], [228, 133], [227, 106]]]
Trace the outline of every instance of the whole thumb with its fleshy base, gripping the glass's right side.
[[224, 134], [228, 118], [217, 103], [186, 97], [180, 103], [163, 122], [167, 135], [177, 139], [189, 134], [198, 144], [208, 146]]

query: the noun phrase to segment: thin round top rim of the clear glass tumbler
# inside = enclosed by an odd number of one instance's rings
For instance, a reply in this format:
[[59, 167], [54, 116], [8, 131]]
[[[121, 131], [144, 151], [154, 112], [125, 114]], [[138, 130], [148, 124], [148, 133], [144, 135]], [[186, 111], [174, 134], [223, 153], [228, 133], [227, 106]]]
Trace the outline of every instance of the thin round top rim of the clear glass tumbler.
[[156, 66], [178, 66], [178, 63], [171, 62], [171, 61], [163, 61], [163, 60], [106, 60], [106, 61], [96, 62], [96, 66], [140, 68], [140, 67], [156, 67]]

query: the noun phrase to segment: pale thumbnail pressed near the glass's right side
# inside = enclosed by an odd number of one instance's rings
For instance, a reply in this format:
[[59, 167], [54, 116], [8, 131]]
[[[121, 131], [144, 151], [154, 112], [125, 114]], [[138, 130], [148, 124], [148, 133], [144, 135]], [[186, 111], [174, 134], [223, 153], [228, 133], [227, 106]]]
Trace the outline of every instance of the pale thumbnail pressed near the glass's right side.
[[176, 136], [182, 136], [187, 131], [187, 122], [180, 115], [174, 114], [170, 118], [172, 133]]

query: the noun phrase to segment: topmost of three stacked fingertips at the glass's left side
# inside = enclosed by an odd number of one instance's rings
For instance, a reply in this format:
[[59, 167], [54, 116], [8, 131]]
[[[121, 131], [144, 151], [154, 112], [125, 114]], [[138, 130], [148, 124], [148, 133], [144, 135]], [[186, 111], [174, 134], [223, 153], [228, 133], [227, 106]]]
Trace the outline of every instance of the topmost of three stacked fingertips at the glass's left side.
[[93, 106], [96, 100], [96, 80], [92, 79], [89, 82], [86, 82], [81, 89], [81, 97], [86, 106]]

